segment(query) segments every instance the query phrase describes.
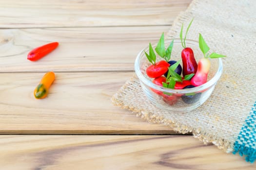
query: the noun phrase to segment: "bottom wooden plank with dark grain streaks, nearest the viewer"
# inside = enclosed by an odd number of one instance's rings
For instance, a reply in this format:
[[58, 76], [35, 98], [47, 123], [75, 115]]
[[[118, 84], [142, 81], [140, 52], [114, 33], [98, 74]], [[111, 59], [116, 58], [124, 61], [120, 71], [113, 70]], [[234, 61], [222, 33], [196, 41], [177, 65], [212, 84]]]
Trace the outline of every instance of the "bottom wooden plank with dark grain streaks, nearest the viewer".
[[192, 136], [0, 136], [3, 170], [255, 170]]

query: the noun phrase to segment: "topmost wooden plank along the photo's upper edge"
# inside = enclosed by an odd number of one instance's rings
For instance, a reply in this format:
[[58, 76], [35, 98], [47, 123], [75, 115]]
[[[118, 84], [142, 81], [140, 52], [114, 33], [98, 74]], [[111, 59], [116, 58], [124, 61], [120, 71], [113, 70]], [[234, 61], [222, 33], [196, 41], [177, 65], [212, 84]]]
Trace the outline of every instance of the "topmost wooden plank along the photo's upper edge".
[[191, 0], [1, 0], [0, 28], [170, 25]]

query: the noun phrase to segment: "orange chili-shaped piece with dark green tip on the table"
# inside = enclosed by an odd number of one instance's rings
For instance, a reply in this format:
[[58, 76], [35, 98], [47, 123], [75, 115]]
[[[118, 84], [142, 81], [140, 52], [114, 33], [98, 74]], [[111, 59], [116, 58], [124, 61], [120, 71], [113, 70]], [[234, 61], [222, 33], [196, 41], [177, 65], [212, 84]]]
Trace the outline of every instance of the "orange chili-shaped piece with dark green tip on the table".
[[39, 85], [34, 90], [34, 96], [36, 99], [43, 99], [47, 96], [50, 86], [55, 79], [54, 72], [47, 72], [41, 79]]

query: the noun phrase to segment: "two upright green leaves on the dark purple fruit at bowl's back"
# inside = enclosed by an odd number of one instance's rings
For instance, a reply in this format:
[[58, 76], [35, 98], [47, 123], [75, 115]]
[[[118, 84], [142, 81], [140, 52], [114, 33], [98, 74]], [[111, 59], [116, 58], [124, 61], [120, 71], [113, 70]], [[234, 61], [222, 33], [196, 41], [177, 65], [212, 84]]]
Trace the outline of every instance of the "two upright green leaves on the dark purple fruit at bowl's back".
[[162, 33], [162, 35], [161, 35], [161, 37], [158, 41], [158, 45], [157, 45], [155, 50], [158, 53], [158, 55], [160, 57], [162, 57], [166, 62], [168, 62], [171, 59], [171, 54], [172, 54], [172, 50], [173, 50], [173, 43], [174, 43], [174, 40], [170, 43], [168, 48], [165, 50], [164, 34]]

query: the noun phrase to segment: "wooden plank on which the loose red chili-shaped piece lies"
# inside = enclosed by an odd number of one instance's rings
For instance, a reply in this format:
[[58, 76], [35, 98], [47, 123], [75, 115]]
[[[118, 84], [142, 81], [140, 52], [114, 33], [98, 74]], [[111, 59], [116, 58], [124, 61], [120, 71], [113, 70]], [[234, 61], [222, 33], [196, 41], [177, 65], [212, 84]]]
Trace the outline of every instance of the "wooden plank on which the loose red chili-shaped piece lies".
[[[133, 70], [139, 51], [169, 26], [0, 30], [0, 72]], [[27, 53], [43, 44], [59, 47], [37, 62]]]

